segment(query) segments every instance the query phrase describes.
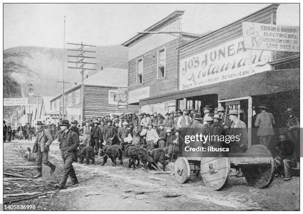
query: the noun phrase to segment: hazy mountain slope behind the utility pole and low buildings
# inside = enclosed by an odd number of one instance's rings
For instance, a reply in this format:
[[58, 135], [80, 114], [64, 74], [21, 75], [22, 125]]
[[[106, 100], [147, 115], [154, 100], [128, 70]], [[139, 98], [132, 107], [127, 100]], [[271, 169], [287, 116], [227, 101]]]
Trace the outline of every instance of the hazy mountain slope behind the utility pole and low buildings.
[[[68, 51], [75, 48], [73, 45], [66, 45], [64, 80], [70, 84], [66, 84], [65, 88], [70, 88], [75, 82], [81, 82], [80, 70], [67, 68], [76, 67], [74, 63], [67, 63], [67, 61], [76, 61], [76, 58], [67, 57], [67, 55], [75, 55], [75, 52]], [[97, 69], [97, 71], [100, 71], [101, 67], [127, 69], [127, 47], [112, 45], [84, 49], [96, 51], [96, 53], [86, 53], [86, 56], [97, 57], [97, 59], [85, 60], [97, 63], [97, 65], [87, 65], [86, 68]], [[31, 83], [40, 96], [55, 96], [62, 91], [62, 83], [56, 82], [62, 81], [62, 59], [63, 49], [60, 48], [19, 46], [6, 49], [3, 51], [3, 83], [5, 78], [15, 81], [17, 88], [18, 84], [20, 85], [23, 97], [25, 97], [26, 82]], [[91, 76], [97, 71], [85, 71], [85, 78], [86, 75]], [[19, 88], [16, 90], [19, 91]], [[30, 97], [34, 102], [33, 99]]]

